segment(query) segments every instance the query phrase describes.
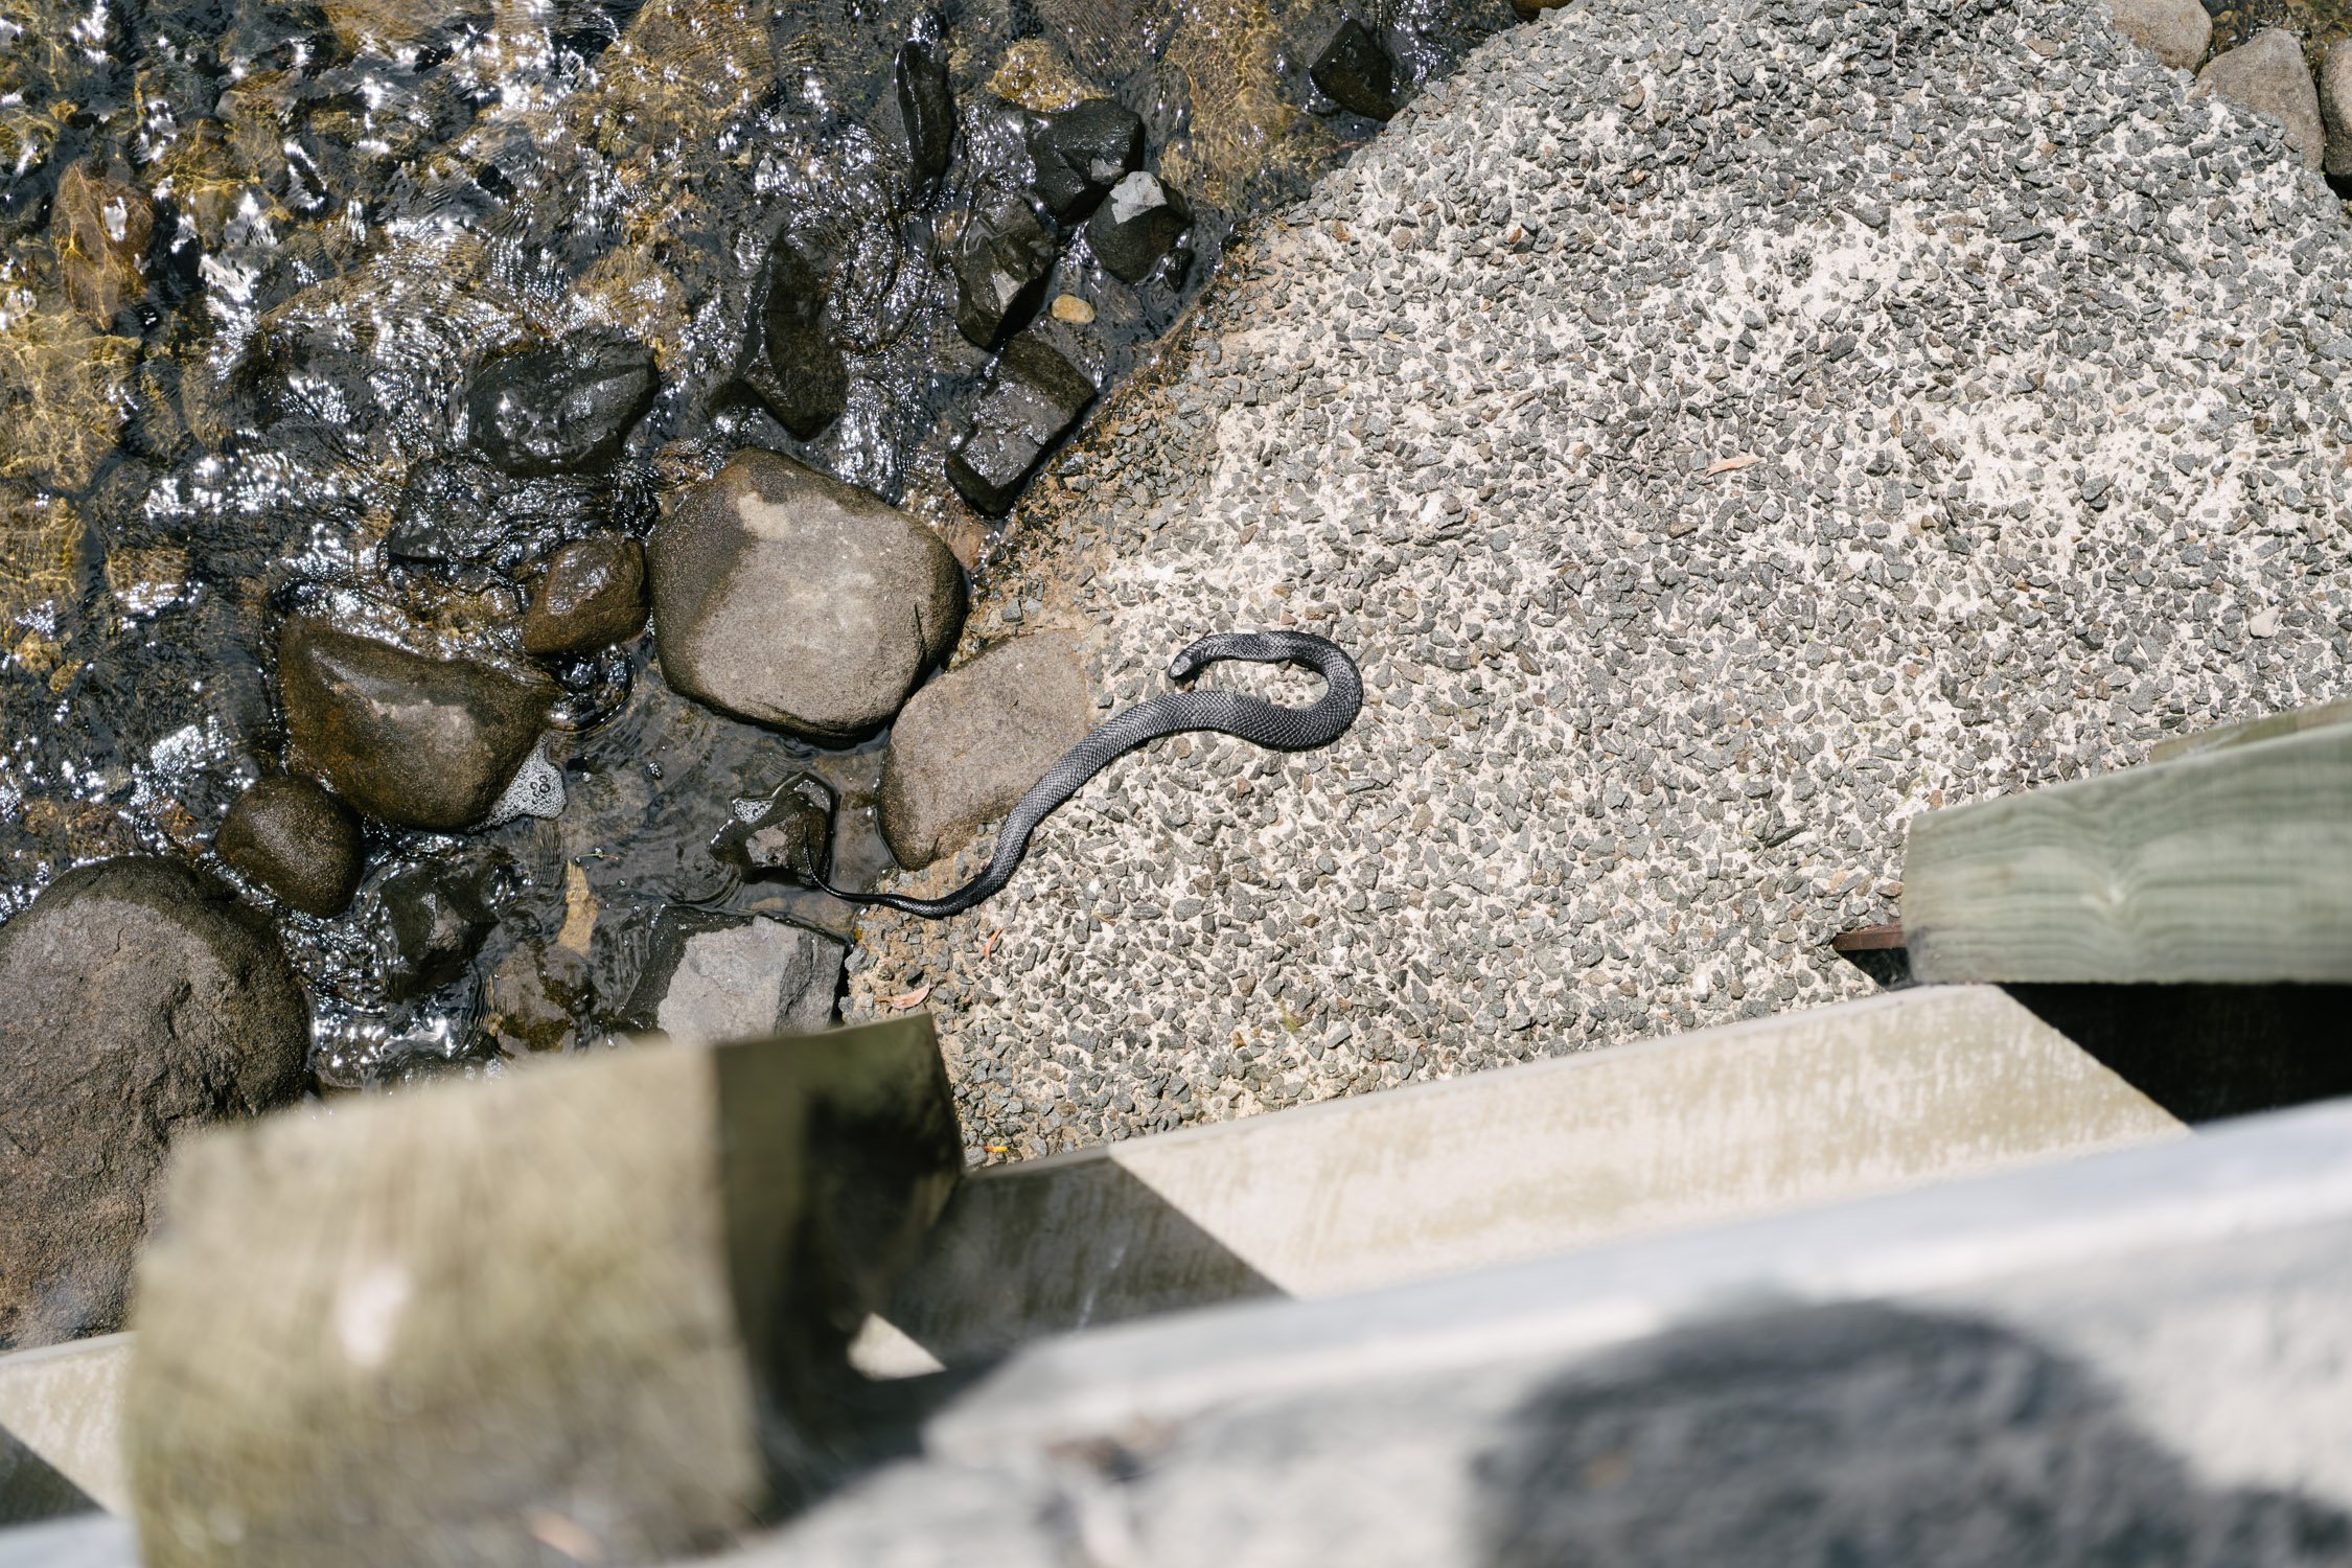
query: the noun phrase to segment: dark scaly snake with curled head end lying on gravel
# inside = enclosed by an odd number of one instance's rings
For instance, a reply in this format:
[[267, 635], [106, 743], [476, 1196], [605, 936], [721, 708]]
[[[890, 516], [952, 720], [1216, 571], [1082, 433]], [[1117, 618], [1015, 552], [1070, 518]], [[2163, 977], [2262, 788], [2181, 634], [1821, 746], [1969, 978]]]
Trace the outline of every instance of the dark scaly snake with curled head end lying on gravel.
[[1240, 736], [1277, 752], [1312, 752], [1348, 733], [1355, 715], [1364, 708], [1364, 677], [1355, 661], [1338, 644], [1310, 632], [1214, 632], [1169, 661], [1169, 679], [1192, 679], [1207, 665], [1228, 658], [1258, 665], [1308, 665], [1324, 677], [1324, 693], [1308, 708], [1282, 708], [1240, 691], [1171, 691], [1136, 703], [1063, 752], [1061, 762], [1030, 785], [1021, 804], [1007, 813], [988, 867], [953, 893], [938, 898], [847, 893], [823, 877], [816, 879], [816, 886], [847, 903], [884, 905], [924, 919], [962, 914], [1014, 879], [1014, 872], [1021, 870], [1021, 856], [1028, 853], [1030, 835], [1044, 818], [1054, 816], [1089, 778], [1138, 745], [1150, 745], [1162, 736], [1214, 729], [1221, 736]]

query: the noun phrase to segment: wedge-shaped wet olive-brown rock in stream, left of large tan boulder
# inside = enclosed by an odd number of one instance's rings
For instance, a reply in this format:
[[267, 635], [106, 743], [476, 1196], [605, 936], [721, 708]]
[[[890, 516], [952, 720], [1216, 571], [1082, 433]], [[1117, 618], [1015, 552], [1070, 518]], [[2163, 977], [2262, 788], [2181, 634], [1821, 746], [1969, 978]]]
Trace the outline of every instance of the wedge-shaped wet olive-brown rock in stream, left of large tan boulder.
[[452, 832], [480, 823], [539, 738], [550, 689], [423, 658], [299, 616], [278, 637], [292, 766], [360, 813]]

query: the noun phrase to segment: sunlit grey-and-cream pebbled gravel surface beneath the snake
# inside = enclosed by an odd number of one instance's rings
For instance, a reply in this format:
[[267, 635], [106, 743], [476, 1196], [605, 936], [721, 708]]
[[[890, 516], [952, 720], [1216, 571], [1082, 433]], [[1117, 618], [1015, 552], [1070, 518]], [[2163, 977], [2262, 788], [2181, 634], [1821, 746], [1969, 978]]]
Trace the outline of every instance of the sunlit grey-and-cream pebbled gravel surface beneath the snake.
[[967, 635], [1082, 630], [1108, 710], [1305, 625], [1362, 722], [1124, 759], [863, 922], [849, 1013], [934, 1009], [1002, 1157], [1867, 992], [1912, 813], [2352, 691], [2347, 284], [2277, 127], [2072, 5], [1508, 33], [1230, 259]]

